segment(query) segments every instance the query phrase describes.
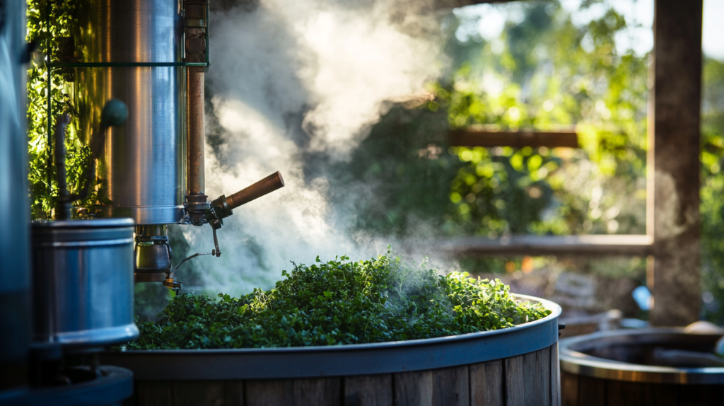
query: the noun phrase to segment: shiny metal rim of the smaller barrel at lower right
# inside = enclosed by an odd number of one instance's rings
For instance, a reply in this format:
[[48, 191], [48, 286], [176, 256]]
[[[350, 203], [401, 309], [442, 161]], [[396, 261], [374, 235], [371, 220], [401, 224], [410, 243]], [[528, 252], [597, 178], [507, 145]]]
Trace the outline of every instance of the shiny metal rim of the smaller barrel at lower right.
[[673, 340], [702, 339], [709, 334], [686, 334], [680, 328], [602, 331], [568, 337], [558, 343], [560, 370], [613, 381], [649, 384], [724, 384], [724, 367], [675, 368], [607, 360], [582, 351], [611, 345], [655, 344]]

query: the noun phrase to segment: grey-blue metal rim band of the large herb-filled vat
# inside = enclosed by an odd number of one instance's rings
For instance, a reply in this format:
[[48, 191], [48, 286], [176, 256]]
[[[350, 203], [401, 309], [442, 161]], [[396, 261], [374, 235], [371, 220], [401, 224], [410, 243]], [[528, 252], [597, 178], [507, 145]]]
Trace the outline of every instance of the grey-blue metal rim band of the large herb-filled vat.
[[542, 303], [552, 313], [508, 329], [433, 339], [318, 347], [104, 352], [101, 362], [128, 368], [138, 380], [311, 378], [447, 368], [510, 358], [555, 344], [560, 306], [537, 297], [515, 296]]

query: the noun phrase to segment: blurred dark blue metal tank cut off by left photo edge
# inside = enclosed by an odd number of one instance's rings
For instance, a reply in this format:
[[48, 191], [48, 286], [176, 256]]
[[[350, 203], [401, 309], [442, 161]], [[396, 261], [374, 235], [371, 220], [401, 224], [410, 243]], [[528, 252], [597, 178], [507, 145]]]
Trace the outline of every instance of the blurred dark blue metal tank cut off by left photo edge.
[[0, 1], [0, 392], [27, 383], [32, 320], [23, 51], [25, 2]]

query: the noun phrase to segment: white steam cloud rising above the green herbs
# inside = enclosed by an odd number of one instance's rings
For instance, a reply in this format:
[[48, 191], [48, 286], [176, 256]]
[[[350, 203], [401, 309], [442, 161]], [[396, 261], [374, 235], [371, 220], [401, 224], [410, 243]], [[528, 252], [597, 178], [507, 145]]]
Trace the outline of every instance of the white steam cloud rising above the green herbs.
[[[306, 153], [348, 157], [385, 101], [424, 93], [439, 73], [439, 23], [399, 1], [262, 0], [211, 15], [206, 194], [235, 193], [279, 170], [286, 187], [235, 210], [221, 258], [195, 259], [208, 291], [270, 287], [289, 261], [376, 255], [387, 242], [348, 233], [329, 182], [306, 179]], [[184, 227], [209, 252], [209, 227]], [[183, 271], [180, 272], [180, 279]]]

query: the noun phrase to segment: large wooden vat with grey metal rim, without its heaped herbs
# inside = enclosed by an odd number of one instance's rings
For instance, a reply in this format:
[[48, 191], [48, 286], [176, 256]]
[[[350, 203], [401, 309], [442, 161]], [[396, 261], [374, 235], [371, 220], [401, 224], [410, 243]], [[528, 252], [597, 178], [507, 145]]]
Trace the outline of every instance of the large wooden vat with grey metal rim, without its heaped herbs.
[[106, 352], [136, 406], [560, 405], [560, 307], [510, 329], [329, 347]]

